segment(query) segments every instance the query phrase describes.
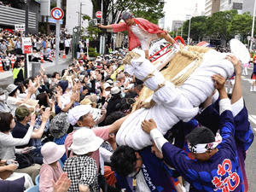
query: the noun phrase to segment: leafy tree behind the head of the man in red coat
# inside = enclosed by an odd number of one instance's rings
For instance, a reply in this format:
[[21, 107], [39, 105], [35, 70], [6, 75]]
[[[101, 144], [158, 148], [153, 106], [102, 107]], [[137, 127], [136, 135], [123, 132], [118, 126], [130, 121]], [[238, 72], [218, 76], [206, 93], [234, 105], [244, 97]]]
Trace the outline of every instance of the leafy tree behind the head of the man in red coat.
[[93, 15], [96, 11], [101, 10], [102, 1], [104, 24], [119, 20], [119, 14], [127, 10], [131, 11], [136, 17], [143, 17], [154, 23], [157, 23], [164, 16], [164, 0], [91, 0]]

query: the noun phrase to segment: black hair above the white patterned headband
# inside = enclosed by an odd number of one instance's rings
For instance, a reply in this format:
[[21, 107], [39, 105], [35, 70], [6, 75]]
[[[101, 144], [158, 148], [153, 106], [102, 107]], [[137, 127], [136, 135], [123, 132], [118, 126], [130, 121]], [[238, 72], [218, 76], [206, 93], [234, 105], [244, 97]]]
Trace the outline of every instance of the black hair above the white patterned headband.
[[215, 141], [213, 132], [207, 127], [197, 127], [189, 133], [186, 137], [187, 141], [192, 145], [202, 143], [212, 143]]

